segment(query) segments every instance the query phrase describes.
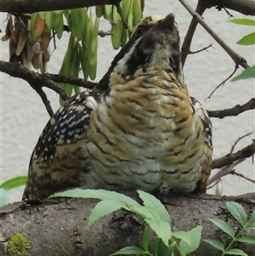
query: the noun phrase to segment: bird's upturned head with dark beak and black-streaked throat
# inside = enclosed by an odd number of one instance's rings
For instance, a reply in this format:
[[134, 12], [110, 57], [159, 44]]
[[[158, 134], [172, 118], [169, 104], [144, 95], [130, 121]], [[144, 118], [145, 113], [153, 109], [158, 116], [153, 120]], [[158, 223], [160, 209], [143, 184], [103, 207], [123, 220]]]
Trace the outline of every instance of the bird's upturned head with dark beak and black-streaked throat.
[[[139, 27], [135, 30], [133, 37], [136, 37], [135, 33], [138, 32]], [[154, 21], [154, 25], [133, 42], [132, 47], [117, 63], [114, 71], [127, 79], [140, 68], [144, 72], [161, 69], [182, 77], [179, 41], [175, 15], [168, 14], [164, 19]]]

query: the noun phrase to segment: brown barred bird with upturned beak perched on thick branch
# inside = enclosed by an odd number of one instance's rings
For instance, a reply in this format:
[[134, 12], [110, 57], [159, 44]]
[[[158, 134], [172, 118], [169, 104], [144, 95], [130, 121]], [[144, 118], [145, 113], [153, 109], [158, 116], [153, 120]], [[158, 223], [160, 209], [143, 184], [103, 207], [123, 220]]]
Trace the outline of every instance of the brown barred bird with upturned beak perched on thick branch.
[[48, 121], [23, 200], [76, 187], [206, 192], [212, 123], [184, 82], [179, 43], [174, 14], [141, 21], [99, 84]]

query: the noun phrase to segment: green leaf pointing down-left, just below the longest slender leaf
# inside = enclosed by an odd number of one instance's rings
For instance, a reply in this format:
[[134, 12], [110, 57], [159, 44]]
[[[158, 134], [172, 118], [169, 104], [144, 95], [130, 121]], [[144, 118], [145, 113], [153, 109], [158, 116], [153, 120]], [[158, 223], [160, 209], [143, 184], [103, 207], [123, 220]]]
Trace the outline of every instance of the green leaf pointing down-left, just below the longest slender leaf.
[[124, 202], [117, 202], [115, 200], [103, 200], [99, 202], [89, 216], [87, 227], [106, 214], [115, 212], [116, 210], [122, 208], [123, 205]]

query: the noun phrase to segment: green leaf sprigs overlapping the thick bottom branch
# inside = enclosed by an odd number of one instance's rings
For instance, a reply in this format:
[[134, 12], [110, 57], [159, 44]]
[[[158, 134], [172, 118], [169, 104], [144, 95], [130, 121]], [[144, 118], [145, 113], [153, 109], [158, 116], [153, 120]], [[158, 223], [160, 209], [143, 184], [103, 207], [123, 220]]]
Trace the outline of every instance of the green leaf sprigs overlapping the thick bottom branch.
[[[131, 213], [136, 213], [144, 219], [148, 225], [144, 229], [142, 239], [143, 247], [124, 247], [116, 253], [112, 253], [111, 256], [120, 254], [157, 256], [161, 255], [162, 249], [164, 249], [163, 256], [172, 256], [174, 255], [173, 251], [177, 251], [178, 255], [184, 256], [194, 252], [199, 247], [201, 242], [201, 225], [189, 231], [178, 230], [173, 232], [169, 213], [161, 202], [156, 199], [155, 196], [144, 191], [138, 191], [138, 193], [143, 201], [143, 205], [115, 191], [76, 189], [55, 193], [54, 196], [94, 198], [101, 200], [93, 209], [88, 219], [87, 227], [92, 225], [97, 219], [120, 208]], [[248, 217], [241, 204], [237, 202], [226, 202], [226, 206], [231, 216], [236, 220], [239, 230], [235, 231], [235, 227], [222, 219], [210, 219], [214, 225], [218, 226], [219, 229], [229, 235], [232, 241], [229, 242], [226, 247], [224, 247], [222, 242], [217, 240], [207, 239], [205, 241], [211, 244], [212, 247], [216, 247], [218, 250], [222, 251], [222, 256], [248, 256], [241, 251], [241, 249], [233, 247], [233, 244], [234, 242], [255, 244], [255, 236], [246, 236], [247, 230], [255, 230], [255, 210]], [[156, 239], [151, 245], [151, 249], [149, 248], [150, 229], [156, 233]]]

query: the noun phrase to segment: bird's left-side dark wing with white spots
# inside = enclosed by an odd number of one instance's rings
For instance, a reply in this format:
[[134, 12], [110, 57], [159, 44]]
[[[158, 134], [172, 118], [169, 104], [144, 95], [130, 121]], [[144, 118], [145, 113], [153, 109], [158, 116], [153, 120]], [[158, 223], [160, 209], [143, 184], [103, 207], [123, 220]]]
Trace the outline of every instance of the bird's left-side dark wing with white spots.
[[86, 90], [67, 100], [50, 118], [31, 155], [23, 200], [42, 199], [79, 185], [80, 170], [86, 166], [81, 145], [96, 106], [97, 100]]

